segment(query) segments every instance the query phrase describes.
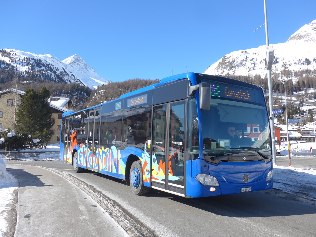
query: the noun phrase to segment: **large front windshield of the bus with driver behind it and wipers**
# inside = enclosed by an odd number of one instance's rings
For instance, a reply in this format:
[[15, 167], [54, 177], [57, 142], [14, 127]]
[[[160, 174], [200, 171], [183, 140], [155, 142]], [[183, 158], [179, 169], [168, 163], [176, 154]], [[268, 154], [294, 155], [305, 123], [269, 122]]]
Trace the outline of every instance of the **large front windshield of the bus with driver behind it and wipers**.
[[213, 99], [201, 110], [204, 159], [269, 161], [270, 128], [265, 104]]

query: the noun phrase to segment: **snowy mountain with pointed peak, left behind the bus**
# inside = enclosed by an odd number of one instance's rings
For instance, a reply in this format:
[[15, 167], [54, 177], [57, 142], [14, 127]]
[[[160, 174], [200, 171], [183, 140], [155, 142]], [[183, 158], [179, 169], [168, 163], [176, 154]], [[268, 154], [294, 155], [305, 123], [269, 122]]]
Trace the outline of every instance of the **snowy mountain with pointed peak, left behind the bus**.
[[111, 82], [109, 79], [99, 76], [77, 54], [60, 61], [50, 54], [37, 55], [15, 49], [0, 51], [0, 64], [12, 66], [22, 74], [35, 73], [42, 80], [74, 82], [89, 88], [97, 88], [99, 85]]

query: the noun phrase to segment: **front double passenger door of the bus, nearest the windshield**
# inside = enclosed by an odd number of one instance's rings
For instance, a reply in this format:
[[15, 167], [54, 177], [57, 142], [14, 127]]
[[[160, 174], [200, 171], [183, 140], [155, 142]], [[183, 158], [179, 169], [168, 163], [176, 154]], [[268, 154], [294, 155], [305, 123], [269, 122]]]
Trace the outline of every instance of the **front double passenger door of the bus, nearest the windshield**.
[[151, 186], [185, 195], [185, 100], [153, 107]]

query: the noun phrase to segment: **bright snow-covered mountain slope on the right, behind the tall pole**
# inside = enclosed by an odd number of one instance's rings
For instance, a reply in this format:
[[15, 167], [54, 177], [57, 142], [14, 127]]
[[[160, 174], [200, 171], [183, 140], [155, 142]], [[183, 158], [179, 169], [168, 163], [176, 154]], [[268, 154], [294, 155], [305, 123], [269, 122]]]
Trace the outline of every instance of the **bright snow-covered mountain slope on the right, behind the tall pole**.
[[[274, 63], [271, 73], [280, 73], [284, 69], [292, 71], [316, 69], [316, 20], [304, 25], [287, 42], [270, 44], [274, 49]], [[212, 64], [204, 71], [211, 75], [247, 76], [261, 75], [264, 77], [266, 46], [231, 52]]]

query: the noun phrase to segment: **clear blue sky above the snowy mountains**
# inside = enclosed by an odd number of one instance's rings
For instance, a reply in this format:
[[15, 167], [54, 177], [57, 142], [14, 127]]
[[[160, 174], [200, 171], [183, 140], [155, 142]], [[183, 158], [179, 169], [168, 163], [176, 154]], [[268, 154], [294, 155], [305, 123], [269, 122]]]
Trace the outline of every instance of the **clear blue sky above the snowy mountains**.
[[[265, 45], [264, 1], [2, 1], [0, 48], [78, 54], [113, 82], [202, 73]], [[315, 0], [267, 0], [270, 44], [316, 19]]]

